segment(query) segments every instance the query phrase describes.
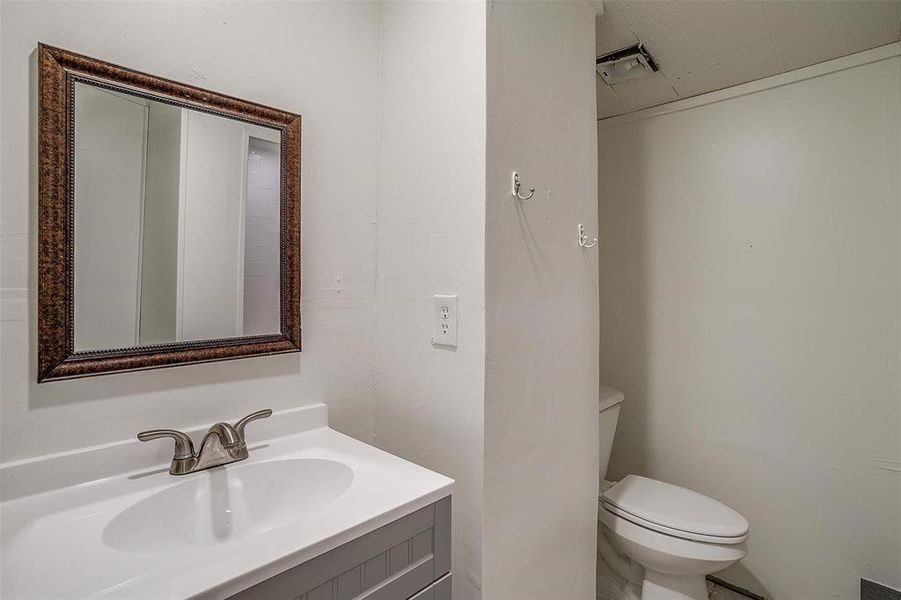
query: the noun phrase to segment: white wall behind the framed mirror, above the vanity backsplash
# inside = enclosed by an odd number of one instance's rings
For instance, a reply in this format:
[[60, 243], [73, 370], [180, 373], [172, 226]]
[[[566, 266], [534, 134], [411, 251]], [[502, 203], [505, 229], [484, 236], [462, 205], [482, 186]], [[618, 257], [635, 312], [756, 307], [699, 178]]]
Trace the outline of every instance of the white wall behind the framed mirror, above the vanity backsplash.
[[[0, 11], [3, 459], [316, 401], [328, 402], [338, 429], [371, 440], [378, 112], [360, 99], [377, 96], [378, 4], [3, 2]], [[35, 384], [38, 41], [304, 116], [302, 354]]]

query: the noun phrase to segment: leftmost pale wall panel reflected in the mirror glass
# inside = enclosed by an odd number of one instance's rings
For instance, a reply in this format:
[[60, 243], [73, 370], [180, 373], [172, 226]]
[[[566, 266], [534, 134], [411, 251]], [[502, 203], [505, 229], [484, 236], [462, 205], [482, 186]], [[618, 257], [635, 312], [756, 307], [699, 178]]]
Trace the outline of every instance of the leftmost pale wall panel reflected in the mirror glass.
[[84, 84], [75, 96], [75, 348], [133, 346], [147, 103]]

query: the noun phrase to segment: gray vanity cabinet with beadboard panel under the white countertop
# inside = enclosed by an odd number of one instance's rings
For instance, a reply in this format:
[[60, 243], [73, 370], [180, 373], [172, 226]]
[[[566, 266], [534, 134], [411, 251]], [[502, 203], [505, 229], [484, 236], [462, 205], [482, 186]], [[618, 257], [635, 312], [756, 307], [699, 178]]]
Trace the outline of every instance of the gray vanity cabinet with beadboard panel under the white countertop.
[[451, 600], [450, 548], [447, 496], [229, 600]]

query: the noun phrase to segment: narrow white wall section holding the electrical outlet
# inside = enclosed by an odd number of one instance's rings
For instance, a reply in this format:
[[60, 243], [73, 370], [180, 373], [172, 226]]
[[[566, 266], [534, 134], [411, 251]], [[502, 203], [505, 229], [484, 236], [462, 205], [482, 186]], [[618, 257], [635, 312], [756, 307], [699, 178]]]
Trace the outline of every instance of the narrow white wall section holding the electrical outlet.
[[[480, 597], [485, 370], [485, 4], [382, 16], [376, 442], [453, 477], [454, 596]], [[459, 346], [430, 346], [459, 295]]]

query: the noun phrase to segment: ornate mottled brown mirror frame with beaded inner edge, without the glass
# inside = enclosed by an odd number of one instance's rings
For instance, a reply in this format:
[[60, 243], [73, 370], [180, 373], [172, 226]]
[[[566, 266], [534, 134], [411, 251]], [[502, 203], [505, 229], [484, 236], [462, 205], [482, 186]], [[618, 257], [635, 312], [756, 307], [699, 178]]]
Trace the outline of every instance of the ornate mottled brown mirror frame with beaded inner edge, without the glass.
[[[299, 352], [300, 115], [44, 44], [38, 47], [38, 70], [38, 382]], [[280, 331], [244, 337], [138, 344], [118, 349], [76, 350], [76, 83], [280, 132], [280, 248], [277, 250], [280, 256]], [[273, 318], [277, 315], [273, 314]]]

